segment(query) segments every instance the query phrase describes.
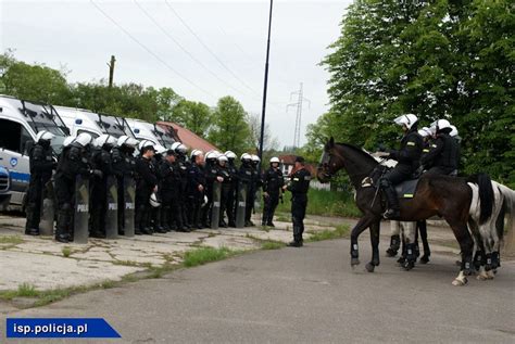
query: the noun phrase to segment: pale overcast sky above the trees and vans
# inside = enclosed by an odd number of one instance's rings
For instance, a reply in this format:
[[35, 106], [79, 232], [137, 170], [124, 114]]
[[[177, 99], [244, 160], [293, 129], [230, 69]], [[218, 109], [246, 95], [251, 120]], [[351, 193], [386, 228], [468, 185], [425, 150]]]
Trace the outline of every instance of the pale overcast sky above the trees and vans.
[[[303, 84], [305, 127], [328, 110], [329, 74], [319, 62], [351, 0], [276, 0], [272, 20], [266, 123], [292, 145]], [[233, 95], [261, 115], [269, 1], [0, 0], [0, 48], [28, 63], [65, 66], [68, 80], [172, 87], [215, 106]]]

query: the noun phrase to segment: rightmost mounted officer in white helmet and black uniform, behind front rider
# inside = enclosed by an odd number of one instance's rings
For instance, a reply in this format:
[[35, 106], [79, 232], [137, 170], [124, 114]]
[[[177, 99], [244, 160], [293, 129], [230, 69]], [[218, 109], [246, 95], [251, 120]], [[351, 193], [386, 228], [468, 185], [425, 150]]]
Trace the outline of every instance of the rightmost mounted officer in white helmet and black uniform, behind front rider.
[[459, 160], [459, 146], [450, 133], [452, 131], [451, 124], [447, 119], [438, 119], [431, 128], [435, 130], [434, 146], [429, 153], [422, 158], [422, 164], [428, 168], [427, 174], [451, 175], [457, 170], [456, 162]]

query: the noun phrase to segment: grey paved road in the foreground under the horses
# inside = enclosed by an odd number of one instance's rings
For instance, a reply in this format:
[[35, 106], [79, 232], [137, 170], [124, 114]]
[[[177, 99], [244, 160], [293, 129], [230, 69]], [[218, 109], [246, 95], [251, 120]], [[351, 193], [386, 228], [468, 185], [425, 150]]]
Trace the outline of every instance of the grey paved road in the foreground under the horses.
[[455, 257], [410, 272], [382, 258], [368, 273], [348, 247], [262, 251], [2, 317], [104, 317], [131, 343], [515, 342], [515, 263], [460, 288]]

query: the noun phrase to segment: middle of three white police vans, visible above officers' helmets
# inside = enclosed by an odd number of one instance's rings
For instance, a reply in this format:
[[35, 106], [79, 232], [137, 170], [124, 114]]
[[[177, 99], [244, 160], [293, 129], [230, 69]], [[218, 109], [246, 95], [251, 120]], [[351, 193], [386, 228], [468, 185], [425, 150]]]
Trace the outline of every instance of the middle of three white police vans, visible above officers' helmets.
[[122, 117], [104, 115], [84, 109], [54, 106], [72, 136], [87, 132], [93, 138], [109, 133], [115, 138], [123, 135], [135, 138], [127, 122]]

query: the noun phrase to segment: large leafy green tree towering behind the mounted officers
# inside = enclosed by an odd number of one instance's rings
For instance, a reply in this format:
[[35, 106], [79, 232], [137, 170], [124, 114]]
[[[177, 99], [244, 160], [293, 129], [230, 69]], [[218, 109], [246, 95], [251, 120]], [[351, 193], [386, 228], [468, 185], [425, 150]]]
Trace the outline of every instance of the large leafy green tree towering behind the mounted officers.
[[[513, 3], [355, 1], [322, 64], [331, 110], [307, 128], [312, 152], [326, 138], [393, 146], [392, 118], [449, 118], [463, 138], [464, 171], [515, 184]], [[313, 154], [316, 155], [316, 154]]]

